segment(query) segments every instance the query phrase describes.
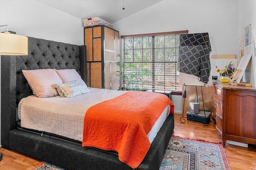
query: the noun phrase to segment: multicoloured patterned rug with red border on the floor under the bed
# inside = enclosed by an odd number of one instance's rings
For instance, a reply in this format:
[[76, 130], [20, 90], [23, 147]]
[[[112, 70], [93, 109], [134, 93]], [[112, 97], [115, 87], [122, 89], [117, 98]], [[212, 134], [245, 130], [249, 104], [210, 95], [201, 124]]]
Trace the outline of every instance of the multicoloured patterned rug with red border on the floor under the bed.
[[[42, 162], [32, 170], [65, 170]], [[230, 170], [221, 143], [172, 136], [159, 170]]]

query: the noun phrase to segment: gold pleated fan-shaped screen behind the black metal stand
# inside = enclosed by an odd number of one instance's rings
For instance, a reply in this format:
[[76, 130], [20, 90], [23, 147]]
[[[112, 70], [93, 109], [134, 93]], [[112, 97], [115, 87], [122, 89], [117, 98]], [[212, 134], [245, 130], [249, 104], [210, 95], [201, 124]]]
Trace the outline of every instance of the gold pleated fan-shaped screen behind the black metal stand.
[[[186, 98], [182, 98], [182, 109], [184, 107], [184, 112], [183, 112], [184, 115], [186, 115], [186, 112], [189, 111], [189, 103], [195, 102], [199, 98], [200, 98], [199, 110], [212, 112], [212, 86], [208, 86], [208, 87], [186, 86], [185, 88], [186, 88], [186, 91], [185, 91]], [[184, 91], [184, 86], [183, 86], [183, 91]]]

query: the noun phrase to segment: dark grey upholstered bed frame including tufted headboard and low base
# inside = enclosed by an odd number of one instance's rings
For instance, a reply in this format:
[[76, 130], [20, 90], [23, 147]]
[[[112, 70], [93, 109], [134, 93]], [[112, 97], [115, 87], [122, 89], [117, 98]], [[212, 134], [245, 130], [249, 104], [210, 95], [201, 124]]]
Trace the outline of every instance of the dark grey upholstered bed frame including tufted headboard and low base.
[[[132, 170], [116, 154], [95, 150], [50, 135], [38, 135], [17, 127], [20, 99], [32, 95], [22, 70], [74, 68], [86, 80], [86, 46], [28, 37], [28, 56], [1, 56], [1, 145], [68, 170]], [[158, 170], [174, 130], [169, 115], [137, 170]], [[3, 155], [4, 157], [4, 155]]]

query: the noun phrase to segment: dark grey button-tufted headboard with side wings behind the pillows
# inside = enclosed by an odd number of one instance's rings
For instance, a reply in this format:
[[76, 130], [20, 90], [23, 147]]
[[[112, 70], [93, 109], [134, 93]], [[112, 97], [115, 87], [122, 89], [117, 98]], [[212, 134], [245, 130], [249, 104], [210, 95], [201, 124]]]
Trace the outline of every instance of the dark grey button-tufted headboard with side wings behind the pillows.
[[1, 56], [1, 145], [9, 148], [9, 131], [16, 128], [16, 106], [32, 90], [22, 70], [76, 69], [86, 81], [86, 46], [28, 37], [27, 56]]

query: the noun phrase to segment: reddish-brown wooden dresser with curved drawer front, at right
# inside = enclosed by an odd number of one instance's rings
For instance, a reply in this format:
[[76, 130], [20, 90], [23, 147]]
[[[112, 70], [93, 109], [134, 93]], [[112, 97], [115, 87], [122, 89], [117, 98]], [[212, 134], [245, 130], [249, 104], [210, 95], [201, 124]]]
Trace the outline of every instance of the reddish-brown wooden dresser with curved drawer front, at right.
[[256, 144], [256, 88], [212, 82], [212, 116], [226, 140]]

